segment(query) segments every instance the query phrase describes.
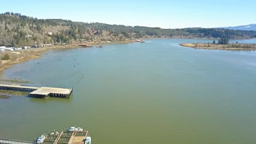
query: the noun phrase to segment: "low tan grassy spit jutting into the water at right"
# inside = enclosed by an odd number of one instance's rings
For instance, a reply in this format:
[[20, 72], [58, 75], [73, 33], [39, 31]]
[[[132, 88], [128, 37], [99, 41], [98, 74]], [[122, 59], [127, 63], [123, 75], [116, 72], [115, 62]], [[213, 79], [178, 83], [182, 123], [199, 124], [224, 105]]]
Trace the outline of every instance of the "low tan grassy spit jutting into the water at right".
[[188, 44], [179, 44], [185, 47], [192, 47], [194, 49], [211, 49], [211, 50], [244, 50], [244, 51], [252, 51], [256, 50], [256, 44], [228, 44], [228, 45], [220, 45], [220, 44], [209, 44], [209, 43], [188, 43]]

